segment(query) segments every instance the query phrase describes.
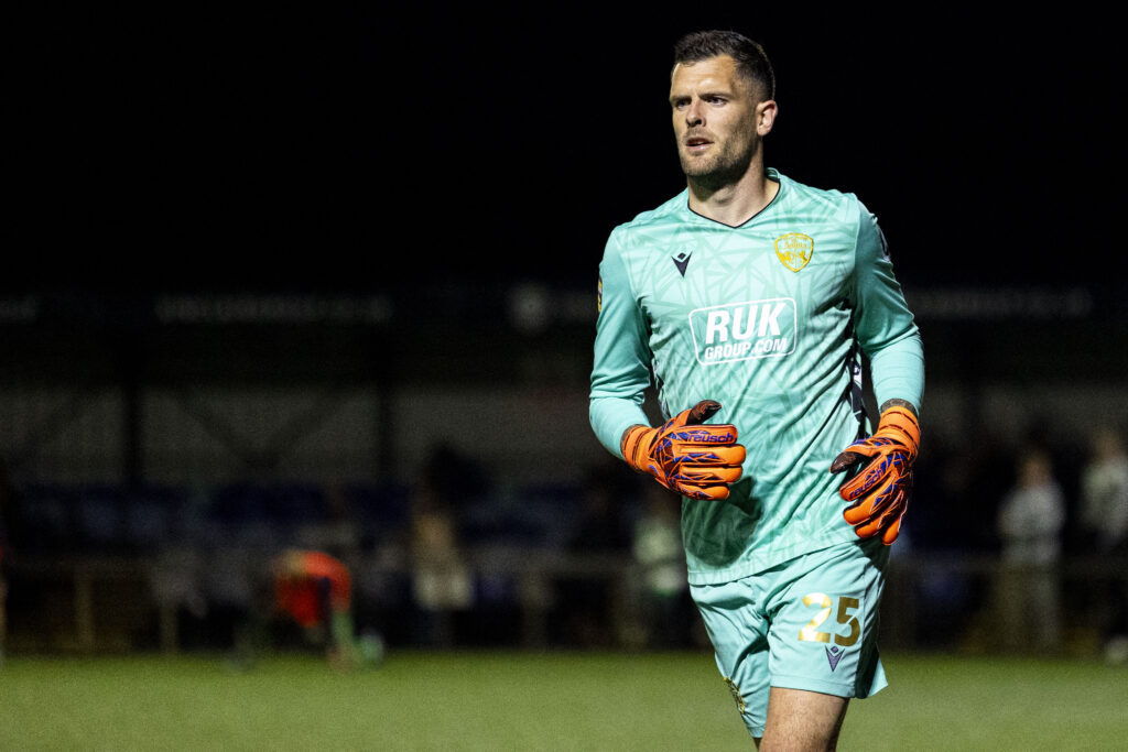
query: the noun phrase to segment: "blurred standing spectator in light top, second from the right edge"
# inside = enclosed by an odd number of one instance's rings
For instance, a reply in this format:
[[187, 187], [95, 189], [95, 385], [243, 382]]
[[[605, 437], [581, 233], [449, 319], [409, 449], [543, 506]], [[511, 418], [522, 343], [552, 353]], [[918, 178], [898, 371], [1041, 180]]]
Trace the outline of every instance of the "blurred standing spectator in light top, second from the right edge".
[[1006, 649], [1046, 652], [1060, 645], [1057, 565], [1064, 525], [1065, 499], [1050, 457], [1042, 449], [1028, 449], [998, 512], [999, 637]]

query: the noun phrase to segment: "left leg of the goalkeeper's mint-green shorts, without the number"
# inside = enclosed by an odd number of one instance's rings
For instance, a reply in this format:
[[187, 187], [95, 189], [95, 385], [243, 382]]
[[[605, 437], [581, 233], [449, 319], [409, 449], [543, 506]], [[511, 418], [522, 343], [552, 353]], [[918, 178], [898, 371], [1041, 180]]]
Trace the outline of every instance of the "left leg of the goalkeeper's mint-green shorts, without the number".
[[768, 625], [758, 611], [755, 581], [695, 585], [690, 593], [737, 711], [748, 732], [759, 738], [767, 725], [770, 676]]

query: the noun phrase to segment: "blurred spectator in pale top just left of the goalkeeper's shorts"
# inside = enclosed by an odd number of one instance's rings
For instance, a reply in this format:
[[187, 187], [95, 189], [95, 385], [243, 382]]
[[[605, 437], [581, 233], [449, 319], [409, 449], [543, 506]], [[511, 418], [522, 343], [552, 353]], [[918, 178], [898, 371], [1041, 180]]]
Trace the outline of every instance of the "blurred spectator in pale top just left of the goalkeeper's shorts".
[[643, 514], [635, 522], [634, 559], [642, 567], [640, 617], [650, 647], [684, 647], [690, 617], [686, 552], [681, 545], [681, 499], [656, 483], [645, 485]]

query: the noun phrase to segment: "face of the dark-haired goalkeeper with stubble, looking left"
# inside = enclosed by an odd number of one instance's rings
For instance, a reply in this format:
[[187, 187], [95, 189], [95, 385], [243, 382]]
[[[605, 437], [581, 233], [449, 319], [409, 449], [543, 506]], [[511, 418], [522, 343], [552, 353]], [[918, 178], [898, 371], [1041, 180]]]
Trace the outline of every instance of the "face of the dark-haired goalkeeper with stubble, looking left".
[[775, 103], [758, 101], [756, 88], [729, 55], [675, 67], [670, 107], [687, 177], [723, 183], [743, 176], [775, 117]]

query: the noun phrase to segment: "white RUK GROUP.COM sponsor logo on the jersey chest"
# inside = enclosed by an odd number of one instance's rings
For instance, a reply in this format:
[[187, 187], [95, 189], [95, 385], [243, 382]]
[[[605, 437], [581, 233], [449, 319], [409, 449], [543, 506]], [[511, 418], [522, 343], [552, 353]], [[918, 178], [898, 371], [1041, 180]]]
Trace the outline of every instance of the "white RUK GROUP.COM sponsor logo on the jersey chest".
[[689, 312], [689, 330], [702, 365], [782, 357], [795, 351], [795, 301], [770, 298], [698, 308]]

